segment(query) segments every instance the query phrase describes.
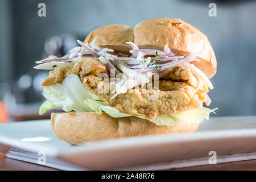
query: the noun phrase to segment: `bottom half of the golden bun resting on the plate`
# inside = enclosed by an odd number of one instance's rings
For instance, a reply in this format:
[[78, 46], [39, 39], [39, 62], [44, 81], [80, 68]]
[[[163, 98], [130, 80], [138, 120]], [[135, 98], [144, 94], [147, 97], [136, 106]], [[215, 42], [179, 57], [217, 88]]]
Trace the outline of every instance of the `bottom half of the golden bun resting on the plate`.
[[70, 144], [142, 135], [189, 133], [199, 127], [199, 123], [184, 121], [175, 126], [157, 126], [137, 117], [113, 118], [106, 113], [99, 115], [90, 112], [52, 113], [51, 124], [56, 136]]

